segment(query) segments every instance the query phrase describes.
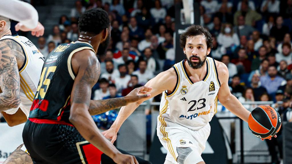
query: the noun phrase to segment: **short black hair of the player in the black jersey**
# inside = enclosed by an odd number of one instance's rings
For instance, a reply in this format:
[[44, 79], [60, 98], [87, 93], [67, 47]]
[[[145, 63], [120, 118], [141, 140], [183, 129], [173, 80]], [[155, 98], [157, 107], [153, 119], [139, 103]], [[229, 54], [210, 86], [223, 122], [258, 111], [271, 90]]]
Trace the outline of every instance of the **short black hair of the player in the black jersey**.
[[110, 25], [109, 16], [101, 8], [92, 8], [81, 14], [78, 21], [80, 32], [99, 34]]

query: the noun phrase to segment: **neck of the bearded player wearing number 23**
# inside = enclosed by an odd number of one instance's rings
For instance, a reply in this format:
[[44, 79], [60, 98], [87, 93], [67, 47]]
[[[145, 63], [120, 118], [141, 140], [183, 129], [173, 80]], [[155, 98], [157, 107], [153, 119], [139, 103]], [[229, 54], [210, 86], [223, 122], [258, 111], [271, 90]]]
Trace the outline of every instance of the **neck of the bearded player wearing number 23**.
[[199, 69], [193, 69], [192, 67], [190, 67], [190, 65], [187, 63], [187, 61], [185, 61], [184, 64], [185, 64], [185, 67], [187, 70], [187, 74], [190, 76], [190, 78], [192, 79], [192, 81], [194, 83], [204, 79], [204, 77], [207, 73], [206, 61], [205, 61], [204, 65]]

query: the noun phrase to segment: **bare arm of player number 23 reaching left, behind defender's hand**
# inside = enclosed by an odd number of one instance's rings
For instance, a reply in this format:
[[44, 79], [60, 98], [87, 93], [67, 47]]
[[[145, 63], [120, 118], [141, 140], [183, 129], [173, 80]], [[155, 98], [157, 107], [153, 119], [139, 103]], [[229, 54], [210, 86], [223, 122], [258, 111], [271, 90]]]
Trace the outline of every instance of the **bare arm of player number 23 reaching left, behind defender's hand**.
[[159, 95], [164, 90], [173, 90], [175, 87], [176, 80], [177, 78], [173, 68], [161, 72], [156, 77], [152, 78], [145, 84], [145, 86], [152, 88], [150, 92], [150, 97], [141, 99], [138, 102], [130, 103], [127, 106], [122, 107], [121, 110], [119, 111], [116, 121], [114, 121], [111, 128], [105, 132], [102, 132], [102, 134], [105, 135], [105, 137], [112, 139], [111, 142], [113, 143], [116, 140], [117, 132], [121, 128], [121, 125], [135, 111], [135, 109], [145, 100], [148, 100], [151, 97]]

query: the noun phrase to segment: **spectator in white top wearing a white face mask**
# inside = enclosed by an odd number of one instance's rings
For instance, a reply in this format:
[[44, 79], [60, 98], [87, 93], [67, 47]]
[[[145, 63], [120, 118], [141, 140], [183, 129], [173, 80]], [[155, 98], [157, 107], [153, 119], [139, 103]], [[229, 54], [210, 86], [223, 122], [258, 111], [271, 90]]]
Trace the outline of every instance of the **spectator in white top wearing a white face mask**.
[[219, 45], [222, 45], [224, 48], [239, 45], [238, 36], [233, 32], [232, 25], [230, 23], [226, 23], [222, 26], [221, 33], [218, 35], [217, 39]]

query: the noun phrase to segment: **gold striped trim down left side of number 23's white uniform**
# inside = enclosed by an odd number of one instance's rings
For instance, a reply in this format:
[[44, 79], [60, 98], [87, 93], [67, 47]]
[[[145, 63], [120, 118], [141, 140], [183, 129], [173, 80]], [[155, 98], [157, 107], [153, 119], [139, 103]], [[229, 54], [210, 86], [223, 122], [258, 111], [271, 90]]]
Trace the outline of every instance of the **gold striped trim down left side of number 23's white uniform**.
[[171, 153], [171, 155], [173, 156], [173, 158], [176, 160], [176, 156], [175, 156], [175, 153], [173, 151], [173, 147], [172, 147], [172, 144], [171, 144], [171, 140], [168, 138], [168, 133], [165, 131], [166, 122], [164, 121], [164, 118], [162, 118], [162, 114], [166, 113], [167, 108], [168, 108], [168, 100], [166, 99], [166, 93], [165, 93], [164, 99], [166, 101], [165, 102], [165, 105], [164, 105], [164, 107], [161, 109], [161, 111], [159, 113], [159, 121], [161, 123], [160, 132], [163, 135], [163, 138], [162, 139], [164, 139], [166, 141], [166, 143], [167, 143], [167, 148], [168, 148], [169, 153]]

